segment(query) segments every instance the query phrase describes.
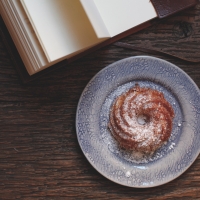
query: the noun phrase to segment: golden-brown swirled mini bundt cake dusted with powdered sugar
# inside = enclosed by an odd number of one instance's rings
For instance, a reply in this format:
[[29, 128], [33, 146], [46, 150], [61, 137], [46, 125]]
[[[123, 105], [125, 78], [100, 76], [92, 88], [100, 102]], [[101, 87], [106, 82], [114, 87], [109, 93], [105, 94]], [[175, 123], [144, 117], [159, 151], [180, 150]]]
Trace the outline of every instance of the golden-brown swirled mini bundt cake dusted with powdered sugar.
[[161, 92], [137, 84], [116, 99], [108, 126], [121, 147], [150, 154], [169, 139], [173, 118]]

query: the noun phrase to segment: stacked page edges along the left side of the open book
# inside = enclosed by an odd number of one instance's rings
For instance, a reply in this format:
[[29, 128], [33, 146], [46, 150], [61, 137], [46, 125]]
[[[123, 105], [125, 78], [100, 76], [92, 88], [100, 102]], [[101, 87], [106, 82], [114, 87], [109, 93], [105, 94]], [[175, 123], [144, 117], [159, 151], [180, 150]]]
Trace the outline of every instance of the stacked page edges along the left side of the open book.
[[28, 73], [40, 70], [48, 62], [20, 0], [1, 0], [0, 9]]

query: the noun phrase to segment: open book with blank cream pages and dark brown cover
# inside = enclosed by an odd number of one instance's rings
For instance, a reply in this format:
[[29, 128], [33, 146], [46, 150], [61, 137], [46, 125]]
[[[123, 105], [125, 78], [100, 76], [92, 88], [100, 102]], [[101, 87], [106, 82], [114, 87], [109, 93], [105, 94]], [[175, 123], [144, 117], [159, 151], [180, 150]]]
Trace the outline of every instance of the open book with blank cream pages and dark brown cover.
[[92, 50], [99, 44], [121, 38], [120, 35], [144, 26], [157, 16], [168, 15], [171, 7], [171, 12], [175, 13], [196, 2], [0, 0], [0, 12], [31, 76], [60, 61]]

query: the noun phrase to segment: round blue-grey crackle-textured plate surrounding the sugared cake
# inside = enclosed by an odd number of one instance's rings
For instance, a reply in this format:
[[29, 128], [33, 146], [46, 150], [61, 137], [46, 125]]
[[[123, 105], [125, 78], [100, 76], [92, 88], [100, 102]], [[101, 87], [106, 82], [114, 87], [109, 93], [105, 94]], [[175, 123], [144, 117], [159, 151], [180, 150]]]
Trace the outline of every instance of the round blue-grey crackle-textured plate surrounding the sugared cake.
[[[163, 92], [175, 111], [167, 144], [139, 160], [122, 150], [107, 128], [113, 101], [135, 83]], [[147, 56], [123, 59], [101, 70], [84, 89], [76, 131], [84, 155], [106, 178], [129, 187], [162, 185], [181, 175], [200, 153], [200, 91], [169, 62]]]

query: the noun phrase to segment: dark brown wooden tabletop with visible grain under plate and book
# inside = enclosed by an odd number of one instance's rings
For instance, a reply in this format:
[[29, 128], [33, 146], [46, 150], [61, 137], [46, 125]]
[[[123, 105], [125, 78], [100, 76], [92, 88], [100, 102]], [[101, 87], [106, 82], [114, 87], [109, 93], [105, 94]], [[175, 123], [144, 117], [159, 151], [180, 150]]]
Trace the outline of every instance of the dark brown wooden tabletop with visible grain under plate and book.
[[[121, 41], [200, 59], [200, 6]], [[84, 87], [107, 65], [135, 55], [151, 54], [109, 45], [22, 84], [0, 38], [0, 199], [200, 199], [200, 157], [177, 179], [137, 189], [103, 177], [79, 147], [75, 116]], [[151, 56], [176, 64], [200, 87], [200, 64]]]

